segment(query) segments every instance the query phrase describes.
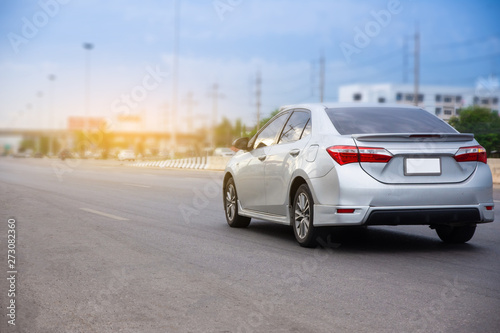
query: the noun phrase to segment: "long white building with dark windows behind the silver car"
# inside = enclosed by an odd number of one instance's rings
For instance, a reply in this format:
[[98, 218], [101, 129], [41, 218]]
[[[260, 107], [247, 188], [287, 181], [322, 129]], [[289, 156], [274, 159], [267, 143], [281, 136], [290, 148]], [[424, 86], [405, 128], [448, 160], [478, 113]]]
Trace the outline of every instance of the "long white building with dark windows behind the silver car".
[[[485, 83], [486, 82], [486, 83]], [[339, 102], [414, 104], [411, 84], [352, 84], [339, 87]], [[479, 80], [476, 88], [420, 86], [418, 105], [444, 120], [470, 105], [488, 107], [498, 113], [498, 80]]]

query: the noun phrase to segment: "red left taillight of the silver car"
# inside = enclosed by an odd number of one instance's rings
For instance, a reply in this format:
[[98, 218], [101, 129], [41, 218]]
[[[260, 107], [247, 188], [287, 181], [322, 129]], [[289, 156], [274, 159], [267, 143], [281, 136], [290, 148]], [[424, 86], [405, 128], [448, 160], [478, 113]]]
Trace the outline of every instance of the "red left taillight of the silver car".
[[384, 148], [333, 146], [326, 151], [340, 165], [356, 162], [387, 163], [392, 158], [392, 154]]

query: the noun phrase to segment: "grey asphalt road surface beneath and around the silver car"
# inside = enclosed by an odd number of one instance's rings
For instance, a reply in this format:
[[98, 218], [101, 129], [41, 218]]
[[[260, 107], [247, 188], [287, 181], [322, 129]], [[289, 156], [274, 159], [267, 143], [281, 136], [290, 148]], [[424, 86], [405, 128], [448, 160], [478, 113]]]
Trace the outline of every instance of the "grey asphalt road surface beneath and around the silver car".
[[0, 158], [0, 331], [499, 332], [500, 188], [469, 244], [373, 227], [304, 249], [285, 226], [229, 228], [221, 179]]

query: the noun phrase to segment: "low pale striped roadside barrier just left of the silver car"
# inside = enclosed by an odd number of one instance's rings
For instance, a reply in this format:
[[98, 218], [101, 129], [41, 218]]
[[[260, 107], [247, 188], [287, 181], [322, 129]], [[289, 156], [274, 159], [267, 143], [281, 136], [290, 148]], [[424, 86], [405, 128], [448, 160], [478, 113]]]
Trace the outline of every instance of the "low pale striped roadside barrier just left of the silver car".
[[132, 164], [135, 167], [156, 167], [156, 168], [176, 168], [176, 169], [197, 169], [197, 170], [224, 170], [231, 157], [204, 156], [181, 159], [169, 159], [163, 161], [146, 161]]

